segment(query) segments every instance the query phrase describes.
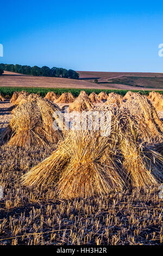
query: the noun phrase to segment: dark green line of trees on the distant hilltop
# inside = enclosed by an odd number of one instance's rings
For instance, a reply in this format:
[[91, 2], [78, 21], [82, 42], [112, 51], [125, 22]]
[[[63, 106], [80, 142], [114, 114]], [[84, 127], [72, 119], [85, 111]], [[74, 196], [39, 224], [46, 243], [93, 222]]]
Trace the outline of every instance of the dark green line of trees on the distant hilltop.
[[49, 76], [49, 77], [64, 77], [64, 78], [72, 78], [79, 79], [79, 74], [72, 69], [63, 69], [56, 68], [55, 66], [50, 69], [48, 66], [27, 66], [27, 65], [14, 65], [14, 64], [0, 64], [0, 75], [1, 70], [16, 72], [24, 75], [32, 75], [32, 76]]

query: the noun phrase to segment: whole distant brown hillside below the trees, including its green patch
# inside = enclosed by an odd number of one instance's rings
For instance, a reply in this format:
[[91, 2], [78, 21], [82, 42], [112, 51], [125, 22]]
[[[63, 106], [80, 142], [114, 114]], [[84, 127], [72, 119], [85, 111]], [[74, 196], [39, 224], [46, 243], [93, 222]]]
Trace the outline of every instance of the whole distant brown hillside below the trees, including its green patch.
[[[34, 88], [73, 88], [73, 89], [120, 89], [120, 90], [162, 90], [163, 74], [156, 73], [130, 73], [130, 72], [89, 72], [77, 71], [79, 80], [58, 77], [35, 77], [29, 75], [16, 74], [4, 71], [0, 76], [0, 87], [34, 87]], [[123, 81], [124, 78], [128, 81]], [[128, 77], [143, 77], [139, 83], [130, 82]], [[146, 80], [150, 78], [149, 80]], [[151, 79], [153, 78], [153, 81]], [[98, 79], [98, 83], [94, 80]], [[160, 80], [158, 82], [158, 80]], [[117, 83], [116, 83], [117, 81]], [[148, 83], [149, 82], [149, 83]], [[138, 86], [137, 86], [138, 85]], [[153, 85], [153, 86], [152, 86]], [[143, 87], [142, 87], [143, 86]]]

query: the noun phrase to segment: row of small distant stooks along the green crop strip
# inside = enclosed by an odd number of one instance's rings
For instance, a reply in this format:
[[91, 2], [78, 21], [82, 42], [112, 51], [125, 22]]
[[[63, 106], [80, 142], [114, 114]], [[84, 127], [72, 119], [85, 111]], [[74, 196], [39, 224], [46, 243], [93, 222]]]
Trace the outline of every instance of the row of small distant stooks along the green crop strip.
[[[29, 95], [27, 92], [14, 92], [11, 97], [10, 103], [18, 105], [20, 101], [26, 99]], [[133, 100], [133, 92], [128, 92], [124, 97], [120, 94], [110, 93], [109, 95], [106, 92], [101, 92], [98, 95], [96, 93], [91, 93], [89, 96], [85, 91], [80, 92], [77, 99], [74, 99], [72, 93], [62, 93], [60, 96], [56, 95], [54, 92], [48, 92], [45, 96], [45, 99], [52, 101], [54, 103], [73, 103], [70, 105], [70, 111], [77, 110], [83, 111], [84, 109], [90, 109], [93, 107], [92, 103], [103, 103], [106, 105], [115, 104], [120, 106], [124, 101]], [[152, 105], [155, 107], [156, 111], [163, 111], [163, 95], [156, 92], [150, 92], [148, 99], [152, 102]], [[4, 97], [0, 94], [0, 101], [4, 101]], [[76, 109], [76, 105], [81, 105], [82, 107]]]

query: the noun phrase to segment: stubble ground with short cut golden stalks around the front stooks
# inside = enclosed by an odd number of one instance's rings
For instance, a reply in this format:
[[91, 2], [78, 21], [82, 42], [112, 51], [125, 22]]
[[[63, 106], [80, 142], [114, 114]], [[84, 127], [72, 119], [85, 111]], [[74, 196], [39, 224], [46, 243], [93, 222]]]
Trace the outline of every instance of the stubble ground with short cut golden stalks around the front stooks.
[[[1, 130], [11, 120], [11, 106], [9, 100], [0, 102]], [[46, 191], [22, 187], [22, 175], [53, 150], [0, 147], [0, 245], [162, 244], [159, 187], [81, 200], [60, 200], [52, 186]]]

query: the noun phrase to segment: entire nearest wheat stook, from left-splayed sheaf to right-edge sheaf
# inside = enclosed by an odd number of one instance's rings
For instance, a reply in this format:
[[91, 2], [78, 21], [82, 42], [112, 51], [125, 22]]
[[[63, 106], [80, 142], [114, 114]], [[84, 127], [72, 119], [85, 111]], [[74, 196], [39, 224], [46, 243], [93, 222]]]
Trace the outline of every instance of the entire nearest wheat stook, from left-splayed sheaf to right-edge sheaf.
[[23, 185], [54, 184], [59, 197], [72, 199], [122, 190], [124, 184], [145, 188], [163, 180], [163, 157], [143, 145], [143, 130], [135, 119], [114, 106], [95, 107], [91, 112], [95, 110], [111, 112], [110, 135], [99, 136], [95, 130], [70, 132], [58, 150], [23, 176]]

